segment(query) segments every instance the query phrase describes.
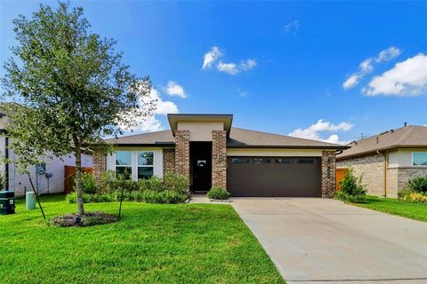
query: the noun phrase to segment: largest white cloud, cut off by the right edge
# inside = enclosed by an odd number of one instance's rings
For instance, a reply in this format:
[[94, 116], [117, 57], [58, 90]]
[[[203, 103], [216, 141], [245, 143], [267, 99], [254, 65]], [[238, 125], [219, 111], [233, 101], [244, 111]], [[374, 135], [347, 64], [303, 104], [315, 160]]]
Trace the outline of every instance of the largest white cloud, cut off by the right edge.
[[375, 76], [362, 90], [368, 96], [419, 96], [427, 92], [427, 55], [420, 53]]

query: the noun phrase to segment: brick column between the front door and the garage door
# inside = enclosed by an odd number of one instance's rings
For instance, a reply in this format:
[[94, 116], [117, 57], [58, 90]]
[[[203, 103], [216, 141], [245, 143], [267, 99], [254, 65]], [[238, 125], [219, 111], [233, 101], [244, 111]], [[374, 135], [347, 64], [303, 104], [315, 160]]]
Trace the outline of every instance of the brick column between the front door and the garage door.
[[227, 188], [227, 131], [212, 131], [212, 186]]

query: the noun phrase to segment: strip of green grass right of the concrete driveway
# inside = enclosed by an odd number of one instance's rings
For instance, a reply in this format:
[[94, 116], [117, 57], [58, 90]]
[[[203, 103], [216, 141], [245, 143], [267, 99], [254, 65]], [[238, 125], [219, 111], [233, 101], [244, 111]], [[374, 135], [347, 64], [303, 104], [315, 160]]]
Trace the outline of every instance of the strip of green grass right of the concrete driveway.
[[427, 204], [423, 203], [411, 203], [392, 198], [379, 198], [368, 195], [365, 203], [351, 204], [427, 222]]

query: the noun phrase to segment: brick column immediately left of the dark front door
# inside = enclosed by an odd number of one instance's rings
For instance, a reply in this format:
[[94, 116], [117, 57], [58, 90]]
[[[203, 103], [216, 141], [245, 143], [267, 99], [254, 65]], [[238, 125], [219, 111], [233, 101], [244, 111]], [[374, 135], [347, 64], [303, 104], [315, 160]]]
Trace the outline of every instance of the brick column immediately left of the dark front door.
[[175, 172], [189, 177], [189, 130], [175, 131]]

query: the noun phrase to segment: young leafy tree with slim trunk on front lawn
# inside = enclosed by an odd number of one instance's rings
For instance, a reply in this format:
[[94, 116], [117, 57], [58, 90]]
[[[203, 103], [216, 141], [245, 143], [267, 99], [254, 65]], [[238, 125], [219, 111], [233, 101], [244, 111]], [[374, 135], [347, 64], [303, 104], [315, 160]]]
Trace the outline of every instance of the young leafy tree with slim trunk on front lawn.
[[109, 150], [117, 136], [153, 111], [148, 77], [122, 63], [115, 41], [90, 31], [83, 8], [40, 5], [13, 20], [17, 45], [4, 63], [4, 100], [20, 102], [7, 128], [15, 154], [76, 156], [78, 214], [84, 215], [81, 155]]

